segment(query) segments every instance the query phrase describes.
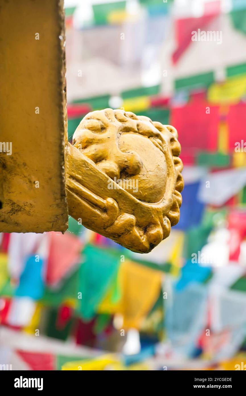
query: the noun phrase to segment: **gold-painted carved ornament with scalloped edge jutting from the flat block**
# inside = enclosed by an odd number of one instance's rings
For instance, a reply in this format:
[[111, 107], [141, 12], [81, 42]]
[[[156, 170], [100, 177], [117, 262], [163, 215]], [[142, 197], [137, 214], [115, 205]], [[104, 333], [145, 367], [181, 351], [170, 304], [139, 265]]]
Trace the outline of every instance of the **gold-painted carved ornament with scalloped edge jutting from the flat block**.
[[180, 217], [177, 137], [172, 126], [132, 112], [87, 114], [66, 146], [69, 214], [132, 251], [151, 251]]

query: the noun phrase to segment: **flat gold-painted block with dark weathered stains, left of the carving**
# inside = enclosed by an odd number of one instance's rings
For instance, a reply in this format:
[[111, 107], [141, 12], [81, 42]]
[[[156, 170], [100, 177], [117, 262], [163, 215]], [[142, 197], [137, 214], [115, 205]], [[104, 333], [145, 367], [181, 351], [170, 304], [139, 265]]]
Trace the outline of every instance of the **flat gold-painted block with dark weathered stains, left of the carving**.
[[0, 19], [0, 232], [64, 231], [63, 2], [0, 0]]

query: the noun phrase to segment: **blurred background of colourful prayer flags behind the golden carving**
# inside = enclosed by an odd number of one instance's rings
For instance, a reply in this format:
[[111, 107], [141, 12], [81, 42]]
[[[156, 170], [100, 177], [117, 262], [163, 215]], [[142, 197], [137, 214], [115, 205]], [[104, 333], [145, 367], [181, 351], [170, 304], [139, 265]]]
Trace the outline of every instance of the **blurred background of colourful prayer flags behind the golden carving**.
[[91, 110], [171, 124], [180, 222], [138, 254], [69, 219], [0, 234], [0, 368], [246, 369], [246, 0], [65, 0], [68, 136]]

